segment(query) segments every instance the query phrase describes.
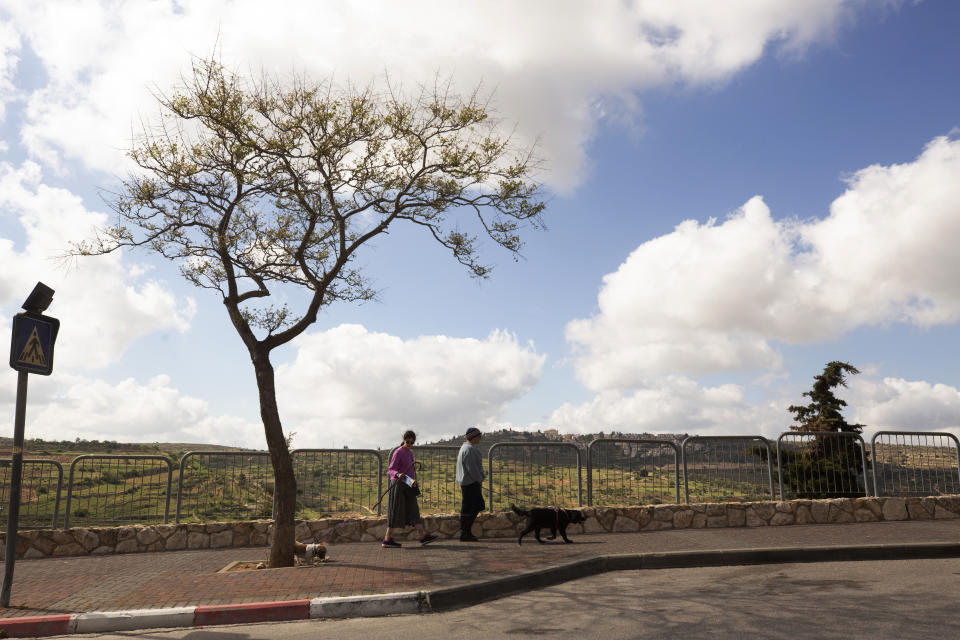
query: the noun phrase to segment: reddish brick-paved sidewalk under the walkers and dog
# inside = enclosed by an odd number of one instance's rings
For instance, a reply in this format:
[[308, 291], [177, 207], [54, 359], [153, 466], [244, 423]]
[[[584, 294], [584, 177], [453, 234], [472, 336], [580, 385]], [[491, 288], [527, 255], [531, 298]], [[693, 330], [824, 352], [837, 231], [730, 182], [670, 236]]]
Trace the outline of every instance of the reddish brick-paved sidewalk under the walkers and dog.
[[960, 542], [960, 520], [578, 535], [575, 544], [441, 540], [402, 549], [332, 545], [316, 567], [217, 573], [262, 560], [264, 547], [18, 560], [0, 617], [296, 600], [459, 586], [617, 553], [821, 545]]

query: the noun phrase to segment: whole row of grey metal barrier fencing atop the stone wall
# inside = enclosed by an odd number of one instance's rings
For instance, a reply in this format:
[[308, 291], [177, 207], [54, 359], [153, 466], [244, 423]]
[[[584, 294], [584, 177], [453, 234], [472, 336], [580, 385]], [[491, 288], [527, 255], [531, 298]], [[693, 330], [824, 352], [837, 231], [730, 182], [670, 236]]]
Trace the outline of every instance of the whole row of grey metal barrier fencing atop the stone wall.
[[[857, 434], [787, 432], [776, 442], [776, 475], [771, 444], [760, 436], [691, 436], [680, 446], [630, 438], [599, 438], [585, 448], [496, 443], [487, 453], [488, 508], [506, 508], [510, 502], [574, 507], [584, 499], [589, 505], [770, 499], [774, 477], [781, 499], [960, 494], [960, 441], [951, 433], [880, 431], [870, 442], [873, 463], [868, 465], [867, 445]], [[458, 450], [414, 447], [424, 512], [459, 509]], [[299, 517], [385, 511], [378, 498], [387, 460], [377, 451], [300, 449], [291, 455]], [[9, 498], [9, 465], [0, 461], [0, 508]], [[180, 470], [176, 488], [175, 465]], [[166, 522], [173, 491], [177, 522], [269, 518], [273, 512], [273, 468], [265, 451], [190, 451], [179, 464], [163, 456], [81, 455], [70, 464], [61, 508], [63, 476], [56, 460], [24, 460], [23, 528], [55, 526], [61, 518], [65, 527]]]

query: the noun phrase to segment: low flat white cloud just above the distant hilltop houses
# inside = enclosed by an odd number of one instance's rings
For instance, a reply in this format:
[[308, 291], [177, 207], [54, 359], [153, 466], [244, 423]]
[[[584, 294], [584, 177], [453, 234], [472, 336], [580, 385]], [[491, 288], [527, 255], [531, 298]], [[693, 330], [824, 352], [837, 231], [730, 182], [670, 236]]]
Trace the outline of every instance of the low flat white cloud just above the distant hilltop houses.
[[784, 401], [753, 404], [744, 388], [725, 384], [702, 387], [683, 376], [664, 376], [631, 393], [602, 391], [583, 404], [566, 403], [543, 424], [561, 433], [751, 434], [776, 437], [787, 430]]

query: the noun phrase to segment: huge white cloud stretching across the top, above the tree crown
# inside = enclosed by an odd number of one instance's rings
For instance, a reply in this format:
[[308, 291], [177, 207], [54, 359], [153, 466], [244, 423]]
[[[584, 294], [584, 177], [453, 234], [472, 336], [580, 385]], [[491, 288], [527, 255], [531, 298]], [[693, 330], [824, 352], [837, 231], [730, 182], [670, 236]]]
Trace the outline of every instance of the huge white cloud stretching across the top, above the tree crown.
[[483, 81], [505, 120], [519, 123], [518, 140], [542, 140], [558, 188], [583, 179], [584, 145], [603, 113], [634, 118], [646, 89], [713, 85], [771, 48], [803, 51], [857, 4], [290, 0], [265, 11], [255, 0], [0, 0], [49, 78], [29, 98], [23, 139], [51, 165], [66, 156], [122, 170], [116, 150], [135, 114], [152, 112], [148, 89], [169, 89], [188, 53], [208, 55], [216, 43], [240, 70], [361, 85], [385, 71], [408, 86], [436, 73], [461, 89]]

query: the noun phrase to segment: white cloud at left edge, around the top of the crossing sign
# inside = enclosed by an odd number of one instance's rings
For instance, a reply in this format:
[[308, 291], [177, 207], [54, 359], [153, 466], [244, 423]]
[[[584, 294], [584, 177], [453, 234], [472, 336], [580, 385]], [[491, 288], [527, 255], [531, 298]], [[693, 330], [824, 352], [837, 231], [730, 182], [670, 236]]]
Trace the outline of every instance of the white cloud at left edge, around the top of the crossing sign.
[[115, 253], [77, 259], [65, 269], [56, 260], [69, 242], [87, 238], [106, 216], [88, 211], [69, 191], [42, 182], [39, 166], [0, 163], [0, 210], [17, 215], [25, 242], [0, 236], [0, 307], [15, 312], [42, 281], [56, 295], [49, 313], [61, 320], [56, 364], [96, 368], [116, 362], [131, 342], [161, 330], [186, 331], [192, 299], [143, 277], [143, 269]]

